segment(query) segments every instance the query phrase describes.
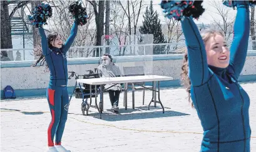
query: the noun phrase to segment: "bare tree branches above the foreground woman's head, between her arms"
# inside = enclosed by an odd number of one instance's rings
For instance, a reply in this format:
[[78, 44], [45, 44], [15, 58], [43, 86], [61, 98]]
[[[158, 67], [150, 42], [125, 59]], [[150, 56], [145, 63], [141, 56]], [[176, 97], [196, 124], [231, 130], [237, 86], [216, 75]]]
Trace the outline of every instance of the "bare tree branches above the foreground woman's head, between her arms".
[[[226, 41], [230, 41], [233, 34], [233, 24], [235, 22], [235, 16], [231, 13], [232, 9], [224, 6], [221, 1], [209, 1], [209, 4], [215, 9], [215, 11], [212, 12], [214, 14], [210, 14], [213, 18], [213, 28], [220, 29]], [[221, 19], [218, 20], [218, 17]]]

